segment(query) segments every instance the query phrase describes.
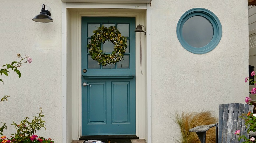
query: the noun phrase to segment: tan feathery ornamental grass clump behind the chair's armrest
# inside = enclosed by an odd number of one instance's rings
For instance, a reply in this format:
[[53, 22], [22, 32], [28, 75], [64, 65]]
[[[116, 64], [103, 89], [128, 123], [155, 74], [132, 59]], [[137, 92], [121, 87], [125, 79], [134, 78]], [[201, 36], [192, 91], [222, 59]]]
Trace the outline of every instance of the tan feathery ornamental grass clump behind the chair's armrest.
[[[210, 111], [201, 112], [187, 112], [183, 111], [181, 114], [175, 112], [174, 121], [178, 124], [180, 129], [180, 136], [176, 138], [178, 143], [201, 143], [195, 132], [188, 130], [200, 125], [215, 124], [218, 119], [212, 115]], [[215, 143], [215, 128], [210, 128], [206, 132], [206, 143]]]

